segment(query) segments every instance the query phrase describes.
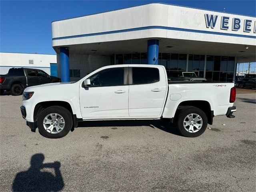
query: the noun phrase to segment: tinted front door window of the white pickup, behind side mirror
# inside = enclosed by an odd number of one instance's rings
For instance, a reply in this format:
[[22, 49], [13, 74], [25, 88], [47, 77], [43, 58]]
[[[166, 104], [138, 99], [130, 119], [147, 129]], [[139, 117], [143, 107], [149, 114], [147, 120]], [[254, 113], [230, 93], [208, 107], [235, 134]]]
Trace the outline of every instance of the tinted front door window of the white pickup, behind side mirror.
[[92, 87], [124, 85], [124, 68], [102, 70], [90, 77]]

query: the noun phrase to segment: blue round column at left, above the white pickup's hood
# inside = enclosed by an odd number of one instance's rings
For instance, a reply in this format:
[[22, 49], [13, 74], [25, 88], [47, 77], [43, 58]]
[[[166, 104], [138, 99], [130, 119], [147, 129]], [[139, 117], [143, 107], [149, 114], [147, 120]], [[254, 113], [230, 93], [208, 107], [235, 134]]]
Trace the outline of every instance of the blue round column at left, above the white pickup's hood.
[[60, 78], [61, 82], [69, 82], [69, 51], [68, 48], [60, 48]]

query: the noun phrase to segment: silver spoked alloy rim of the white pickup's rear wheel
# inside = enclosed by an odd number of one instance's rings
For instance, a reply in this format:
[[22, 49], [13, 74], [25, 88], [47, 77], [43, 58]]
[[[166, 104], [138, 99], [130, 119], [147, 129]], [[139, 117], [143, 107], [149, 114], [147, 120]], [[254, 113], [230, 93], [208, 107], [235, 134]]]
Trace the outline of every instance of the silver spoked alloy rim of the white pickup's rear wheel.
[[183, 126], [187, 132], [195, 133], [202, 128], [203, 120], [200, 115], [192, 113], [184, 118]]

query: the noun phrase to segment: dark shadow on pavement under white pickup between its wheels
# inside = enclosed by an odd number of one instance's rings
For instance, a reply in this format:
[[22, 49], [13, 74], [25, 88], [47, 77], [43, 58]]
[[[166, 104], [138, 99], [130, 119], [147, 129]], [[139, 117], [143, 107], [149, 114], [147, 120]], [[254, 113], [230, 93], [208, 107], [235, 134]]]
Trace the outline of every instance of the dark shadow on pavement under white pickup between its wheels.
[[174, 124], [168, 120], [106, 120], [106, 121], [83, 121], [78, 123], [78, 127], [126, 127], [126, 126], [150, 126], [165, 132], [182, 136], [175, 128]]

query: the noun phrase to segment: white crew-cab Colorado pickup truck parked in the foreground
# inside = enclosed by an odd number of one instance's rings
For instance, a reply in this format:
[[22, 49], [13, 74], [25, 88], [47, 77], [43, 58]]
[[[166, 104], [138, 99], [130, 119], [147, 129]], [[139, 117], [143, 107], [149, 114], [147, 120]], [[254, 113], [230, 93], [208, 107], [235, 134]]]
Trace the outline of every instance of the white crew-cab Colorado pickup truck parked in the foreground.
[[[200, 136], [212, 118], [233, 118], [236, 88], [231, 82], [171, 82], [164, 66], [112, 65], [78, 82], [24, 90], [23, 118], [47, 138], [66, 136], [79, 121], [156, 120], [175, 122], [183, 136]], [[36, 126], [37, 125], [37, 126]]]

